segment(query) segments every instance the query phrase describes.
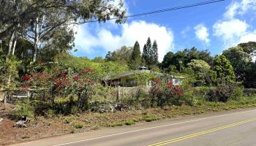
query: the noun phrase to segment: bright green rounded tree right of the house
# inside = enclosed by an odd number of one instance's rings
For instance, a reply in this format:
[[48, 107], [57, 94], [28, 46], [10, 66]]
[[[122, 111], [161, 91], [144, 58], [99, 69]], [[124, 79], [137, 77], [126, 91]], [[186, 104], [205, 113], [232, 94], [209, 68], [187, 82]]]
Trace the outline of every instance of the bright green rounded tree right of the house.
[[225, 78], [225, 80], [233, 82], [235, 80], [235, 73], [230, 61], [227, 60], [225, 55], [216, 55], [214, 58], [214, 71], [217, 72], [219, 79]]

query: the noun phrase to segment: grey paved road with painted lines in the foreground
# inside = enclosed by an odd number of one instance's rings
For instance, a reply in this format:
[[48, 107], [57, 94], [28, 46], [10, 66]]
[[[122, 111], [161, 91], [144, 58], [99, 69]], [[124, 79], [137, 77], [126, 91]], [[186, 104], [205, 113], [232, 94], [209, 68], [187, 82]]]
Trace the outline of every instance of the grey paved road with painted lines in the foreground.
[[256, 110], [238, 110], [188, 118], [104, 128], [82, 134], [39, 139], [26, 146], [250, 146], [256, 145]]

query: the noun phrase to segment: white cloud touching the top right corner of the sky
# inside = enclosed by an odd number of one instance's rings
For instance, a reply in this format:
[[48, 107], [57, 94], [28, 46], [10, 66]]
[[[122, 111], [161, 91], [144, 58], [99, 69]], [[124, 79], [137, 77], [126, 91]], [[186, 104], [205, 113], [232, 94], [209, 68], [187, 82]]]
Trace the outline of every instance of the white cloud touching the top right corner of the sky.
[[241, 0], [233, 1], [229, 6], [226, 7], [227, 12], [225, 12], [225, 18], [232, 19], [236, 15], [244, 15], [246, 12], [256, 10], [255, 0]]

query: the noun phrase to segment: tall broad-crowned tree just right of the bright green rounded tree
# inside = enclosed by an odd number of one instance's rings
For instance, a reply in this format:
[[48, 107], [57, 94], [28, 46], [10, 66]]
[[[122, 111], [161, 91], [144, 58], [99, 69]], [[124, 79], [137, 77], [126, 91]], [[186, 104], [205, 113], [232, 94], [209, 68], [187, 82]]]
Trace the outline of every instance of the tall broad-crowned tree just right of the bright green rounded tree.
[[250, 55], [243, 51], [242, 47], [231, 47], [224, 50], [222, 55], [230, 61], [234, 68], [237, 81], [243, 81], [245, 77], [246, 65], [251, 61]]

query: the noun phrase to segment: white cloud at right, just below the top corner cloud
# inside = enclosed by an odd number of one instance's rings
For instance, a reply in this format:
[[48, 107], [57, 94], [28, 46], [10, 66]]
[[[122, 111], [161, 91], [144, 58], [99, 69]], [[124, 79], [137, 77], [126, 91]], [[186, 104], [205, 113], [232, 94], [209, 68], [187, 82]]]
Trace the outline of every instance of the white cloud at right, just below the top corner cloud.
[[225, 42], [225, 47], [230, 47], [244, 36], [249, 25], [242, 20], [231, 19], [222, 20], [214, 24], [214, 35], [220, 37]]

